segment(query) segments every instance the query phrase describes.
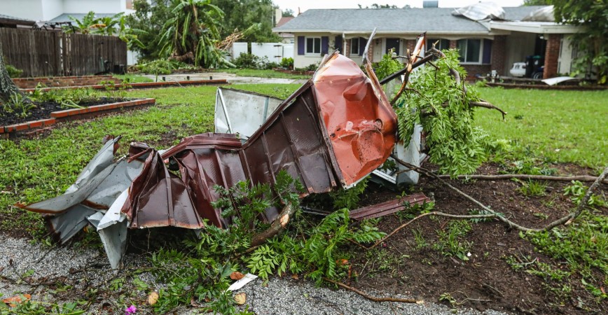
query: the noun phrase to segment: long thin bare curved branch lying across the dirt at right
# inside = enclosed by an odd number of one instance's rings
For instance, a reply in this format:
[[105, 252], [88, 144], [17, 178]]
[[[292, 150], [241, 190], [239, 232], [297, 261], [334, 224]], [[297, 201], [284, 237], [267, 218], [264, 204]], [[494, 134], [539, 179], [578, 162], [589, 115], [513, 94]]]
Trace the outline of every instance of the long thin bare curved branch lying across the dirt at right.
[[551, 230], [552, 228], [555, 228], [558, 225], [563, 225], [569, 221], [573, 221], [575, 218], [577, 218], [578, 216], [580, 216], [581, 212], [583, 211], [585, 205], [587, 204], [589, 198], [591, 197], [591, 195], [593, 194], [593, 191], [595, 190], [595, 188], [597, 188], [597, 186], [599, 186], [600, 182], [602, 182], [605, 178], [606, 178], [606, 174], [608, 174], [608, 167], [606, 167], [604, 169], [604, 172], [602, 172], [602, 174], [600, 176], [597, 177], [597, 179], [595, 179], [595, 182], [593, 182], [593, 184], [588, 188], [587, 193], [585, 194], [585, 197], [583, 197], [583, 200], [581, 200], [581, 203], [579, 204], [579, 207], [576, 208], [576, 211], [570, 213], [567, 216], [564, 216], [562, 218], [559, 218], [558, 220], [555, 220], [551, 223], [549, 223], [548, 225], [545, 225], [543, 228], [539, 228], [539, 229], [535, 229], [535, 228], [526, 228], [522, 225], [518, 225], [517, 223], [514, 223], [513, 221], [509, 220], [508, 218], [505, 218], [504, 216], [502, 216], [502, 214], [498, 214], [496, 211], [490, 209], [489, 207], [485, 206], [485, 204], [482, 204], [481, 202], [479, 202], [478, 200], [476, 200], [474, 197], [471, 197], [469, 195], [467, 195], [466, 193], [463, 193], [460, 189], [455, 188], [454, 186], [450, 185], [450, 183], [448, 183], [447, 181], [441, 179], [440, 177], [438, 177], [437, 175], [433, 174], [431, 171], [429, 171], [428, 169], [424, 169], [422, 167], [417, 167], [415, 165], [412, 165], [408, 162], [404, 162], [403, 160], [397, 158], [395, 155], [391, 155], [391, 157], [398, 162], [399, 164], [406, 166], [406, 167], [410, 167], [410, 169], [415, 170], [416, 172], [429, 176], [431, 178], [437, 179], [438, 181], [440, 181], [441, 183], [443, 183], [443, 185], [448, 186], [448, 188], [454, 190], [456, 193], [459, 193], [460, 195], [462, 195], [463, 197], [467, 198], [468, 200], [470, 200], [471, 202], [474, 202], [474, 204], [477, 204], [479, 207], [481, 207], [481, 209], [487, 211], [489, 214], [494, 214], [495, 218], [497, 218], [499, 221], [502, 221], [503, 223], [505, 223], [506, 225], [509, 226], [509, 228], [514, 228], [516, 230], [520, 230], [523, 232], [544, 232], [547, 230]]

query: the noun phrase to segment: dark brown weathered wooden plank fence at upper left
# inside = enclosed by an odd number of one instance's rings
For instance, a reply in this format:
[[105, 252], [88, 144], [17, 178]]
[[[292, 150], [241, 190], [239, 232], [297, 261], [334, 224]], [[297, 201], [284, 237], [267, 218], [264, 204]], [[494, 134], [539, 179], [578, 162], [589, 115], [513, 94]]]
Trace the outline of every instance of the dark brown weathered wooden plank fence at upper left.
[[127, 45], [113, 36], [0, 28], [0, 41], [21, 76], [85, 76], [127, 64]]

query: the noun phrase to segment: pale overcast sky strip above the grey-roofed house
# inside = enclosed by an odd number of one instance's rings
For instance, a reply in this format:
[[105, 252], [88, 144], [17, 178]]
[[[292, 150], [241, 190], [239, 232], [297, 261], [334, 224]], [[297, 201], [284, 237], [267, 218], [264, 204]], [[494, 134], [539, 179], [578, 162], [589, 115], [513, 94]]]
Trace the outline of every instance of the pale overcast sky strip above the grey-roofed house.
[[[296, 15], [298, 14], [298, 7], [300, 7], [300, 12], [304, 12], [310, 8], [359, 8], [357, 4], [361, 4], [361, 6], [365, 8], [366, 6], [371, 6], [373, 3], [395, 5], [398, 8], [403, 8], [403, 6], [409, 4], [413, 8], [422, 8], [422, 0], [272, 0], [272, 2], [279, 6], [281, 10], [288, 8], [293, 10], [293, 13]], [[439, 7], [460, 8], [477, 2], [496, 2], [501, 6], [520, 6], [523, 3], [523, 0], [439, 0]]]

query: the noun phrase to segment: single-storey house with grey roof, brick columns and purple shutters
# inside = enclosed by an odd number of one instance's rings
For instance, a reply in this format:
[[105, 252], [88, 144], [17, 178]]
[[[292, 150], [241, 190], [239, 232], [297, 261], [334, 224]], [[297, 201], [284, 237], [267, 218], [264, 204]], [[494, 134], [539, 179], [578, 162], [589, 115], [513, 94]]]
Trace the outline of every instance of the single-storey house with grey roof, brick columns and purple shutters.
[[532, 55], [544, 58], [545, 78], [570, 72], [572, 50], [565, 35], [580, 31], [578, 27], [523, 21], [546, 6], [498, 9], [503, 12], [499, 18], [488, 15], [492, 18], [485, 19], [454, 15], [455, 8], [438, 8], [436, 4], [433, 8], [312, 9], [273, 31], [295, 36], [296, 68], [319, 63], [334, 49], [361, 63], [371, 31], [377, 28], [368, 49], [373, 62], [379, 62], [390, 49], [397, 55], [413, 50], [416, 37], [426, 32], [427, 43], [460, 50], [469, 78], [492, 70], [508, 76], [513, 62], [523, 62]]

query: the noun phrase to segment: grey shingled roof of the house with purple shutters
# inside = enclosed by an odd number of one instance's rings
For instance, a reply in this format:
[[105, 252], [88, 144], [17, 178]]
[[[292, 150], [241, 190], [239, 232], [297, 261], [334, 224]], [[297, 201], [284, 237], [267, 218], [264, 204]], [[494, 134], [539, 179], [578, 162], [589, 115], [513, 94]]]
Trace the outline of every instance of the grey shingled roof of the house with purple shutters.
[[[521, 20], [542, 6], [504, 8], [506, 20]], [[378, 32], [488, 33], [478, 22], [452, 15], [454, 8], [406, 9], [310, 9], [280, 27], [277, 32]]]

